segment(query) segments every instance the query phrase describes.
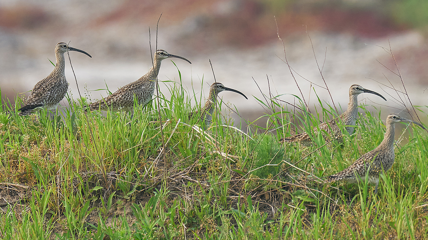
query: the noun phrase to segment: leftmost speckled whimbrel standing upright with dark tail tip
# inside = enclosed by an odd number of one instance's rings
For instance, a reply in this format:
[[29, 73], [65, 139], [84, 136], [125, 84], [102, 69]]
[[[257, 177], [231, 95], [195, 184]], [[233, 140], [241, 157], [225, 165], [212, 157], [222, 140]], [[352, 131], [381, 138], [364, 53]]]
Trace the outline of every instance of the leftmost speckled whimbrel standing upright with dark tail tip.
[[[76, 51], [84, 53], [91, 57], [85, 51], [77, 48], [68, 47], [66, 43], [56, 44], [55, 57], [56, 65], [53, 71], [45, 79], [34, 85], [30, 96], [28, 96], [25, 105], [19, 108], [20, 116], [32, 114], [36, 108], [45, 108], [48, 111], [53, 111], [58, 106], [58, 103], [64, 98], [68, 90], [68, 82], [65, 79], [65, 61], [64, 53], [67, 51]], [[92, 57], [91, 57], [92, 58]]]

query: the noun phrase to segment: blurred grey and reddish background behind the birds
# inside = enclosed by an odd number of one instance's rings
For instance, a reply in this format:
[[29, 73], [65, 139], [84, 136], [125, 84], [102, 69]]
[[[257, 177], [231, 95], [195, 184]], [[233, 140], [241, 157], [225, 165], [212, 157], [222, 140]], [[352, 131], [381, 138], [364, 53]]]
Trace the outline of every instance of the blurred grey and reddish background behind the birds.
[[[2, 99], [13, 102], [48, 76], [58, 42], [70, 41], [92, 55], [70, 52], [80, 92], [92, 101], [107, 93], [91, 90], [107, 85], [113, 92], [139, 79], [152, 66], [149, 27], [154, 51], [160, 13], [158, 49], [192, 62], [172, 59], [184, 88], [208, 95], [214, 82], [210, 59], [217, 82], [249, 97], [220, 94], [246, 120], [268, 113], [255, 99], [263, 99], [262, 93], [285, 94], [279, 99], [291, 103], [297, 100], [290, 94], [303, 95], [311, 108], [319, 104], [316, 95], [331, 104], [325, 84], [339, 113], [347, 107], [352, 84], [386, 97], [388, 102], [372, 94], [359, 98], [384, 115], [400, 113], [410, 103], [389, 88], [404, 92], [397, 68], [411, 103], [426, 105], [425, 0], [1, 0]], [[179, 81], [177, 68], [163, 61], [158, 78]], [[160, 91], [167, 95], [165, 84]]]

